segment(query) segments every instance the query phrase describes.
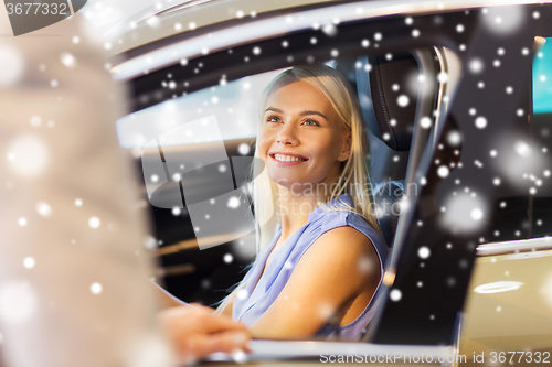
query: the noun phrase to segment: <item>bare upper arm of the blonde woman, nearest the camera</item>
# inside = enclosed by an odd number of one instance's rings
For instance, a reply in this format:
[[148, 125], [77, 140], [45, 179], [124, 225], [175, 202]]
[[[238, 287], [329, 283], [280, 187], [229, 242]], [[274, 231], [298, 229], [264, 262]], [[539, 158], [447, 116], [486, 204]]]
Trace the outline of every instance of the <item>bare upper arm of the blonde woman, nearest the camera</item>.
[[256, 338], [312, 336], [367, 288], [375, 290], [379, 280], [380, 260], [372, 242], [352, 227], [331, 229], [305, 252], [251, 333]]

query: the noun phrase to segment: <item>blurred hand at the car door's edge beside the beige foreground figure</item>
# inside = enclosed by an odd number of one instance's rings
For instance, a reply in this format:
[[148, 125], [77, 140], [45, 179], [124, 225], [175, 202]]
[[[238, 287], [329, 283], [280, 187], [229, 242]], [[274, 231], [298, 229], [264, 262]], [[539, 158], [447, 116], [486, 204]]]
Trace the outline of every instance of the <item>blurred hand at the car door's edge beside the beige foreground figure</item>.
[[[192, 363], [215, 352], [247, 350], [247, 328], [226, 316], [215, 316], [204, 306], [170, 307], [159, 313], [162, 328], [180, 363]], [[212, 309], [209, 309], [212, 310]]]

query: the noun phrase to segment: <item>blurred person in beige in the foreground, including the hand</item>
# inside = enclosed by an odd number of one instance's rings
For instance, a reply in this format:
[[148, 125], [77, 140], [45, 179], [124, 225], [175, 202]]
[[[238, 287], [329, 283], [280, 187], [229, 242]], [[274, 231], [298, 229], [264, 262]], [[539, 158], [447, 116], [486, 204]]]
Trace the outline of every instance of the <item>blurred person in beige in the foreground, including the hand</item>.
[[84, 17], [14, 37], [3, 9], [0, 333], [8, 366], [163, 367], [244, 349], [250, 335], [230, 317], [193, 306], [158, 312], [145, 279], [155, 239], [116, 138], [124, 98]]

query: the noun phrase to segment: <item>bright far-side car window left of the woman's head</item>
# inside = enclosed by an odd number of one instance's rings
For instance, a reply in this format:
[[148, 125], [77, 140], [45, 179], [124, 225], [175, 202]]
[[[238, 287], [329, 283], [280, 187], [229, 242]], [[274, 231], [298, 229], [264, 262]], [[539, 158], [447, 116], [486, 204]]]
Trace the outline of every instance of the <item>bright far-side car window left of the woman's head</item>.
[[[258, 129], [258, 102], [261, 93], [280, 71], [244, 77], [189, 96], [174, 98], [128, 115], [117, 121], [119, 143], [124, 148], [141, 149], [151, 139], [180, 125], [214, 116], [223, 140], [253, 138]], [[166, 88], [174, 88], [177, 82], [162, 82]], [[212, 141], [212, 129], [194, 131], [194, 134], [172, 136], [166, 145], [202, 143]]]

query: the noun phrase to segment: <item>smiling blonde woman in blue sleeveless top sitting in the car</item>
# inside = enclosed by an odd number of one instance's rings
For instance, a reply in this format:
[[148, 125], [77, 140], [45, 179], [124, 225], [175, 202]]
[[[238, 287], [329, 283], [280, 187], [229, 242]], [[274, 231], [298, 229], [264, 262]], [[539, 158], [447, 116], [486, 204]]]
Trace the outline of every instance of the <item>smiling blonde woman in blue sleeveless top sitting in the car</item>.
[[257, 259], [217, 312], [257, 338], [359, 339], [376, 309], [388, 248], [371, 205], [357, 97], [322, 64], [283, 72], [263, 97]]

